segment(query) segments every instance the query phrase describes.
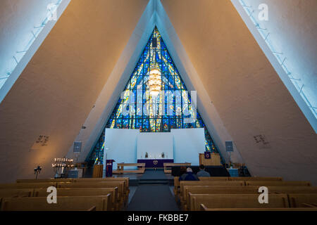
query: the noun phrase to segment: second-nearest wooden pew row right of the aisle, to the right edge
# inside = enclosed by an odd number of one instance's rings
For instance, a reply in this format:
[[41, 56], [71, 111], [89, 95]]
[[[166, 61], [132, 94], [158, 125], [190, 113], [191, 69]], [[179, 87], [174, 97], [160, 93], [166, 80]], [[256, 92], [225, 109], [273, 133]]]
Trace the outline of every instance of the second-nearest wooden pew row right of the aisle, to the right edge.
[[[317, 187], [311, 186], [267, 186], [269, 194], [290, 193], [317, 193]], [[180, 195], [182, 210], [189, 210], [192, 194], [257, 194], [259, 186], [184, 186], [184, 192]]]

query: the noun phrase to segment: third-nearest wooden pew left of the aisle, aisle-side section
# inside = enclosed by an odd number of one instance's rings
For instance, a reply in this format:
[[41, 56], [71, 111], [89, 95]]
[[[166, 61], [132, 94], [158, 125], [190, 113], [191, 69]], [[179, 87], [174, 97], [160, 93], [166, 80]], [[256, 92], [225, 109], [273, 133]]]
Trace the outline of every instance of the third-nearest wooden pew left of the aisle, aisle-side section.
[[58, 183], [57, 188], [115, 188], [118, 187], [118, 198], [120, 199], [120, 208], [125, 206], [128, 196], [125, 195], [124, 181], [109, 182], [75, 182]]

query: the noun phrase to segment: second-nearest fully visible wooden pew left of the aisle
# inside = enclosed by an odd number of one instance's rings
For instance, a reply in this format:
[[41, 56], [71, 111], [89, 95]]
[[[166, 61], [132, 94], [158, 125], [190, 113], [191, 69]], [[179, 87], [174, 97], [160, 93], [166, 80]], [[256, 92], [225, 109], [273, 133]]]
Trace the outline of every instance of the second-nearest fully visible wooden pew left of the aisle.
[[[115, 188], [58, 188], [57, 196], [99, 196], [111, 194], [111, 210], [119, 210], [118, 187]], [[47, 197], [46, 189], [37, 188], [33, 197]]]

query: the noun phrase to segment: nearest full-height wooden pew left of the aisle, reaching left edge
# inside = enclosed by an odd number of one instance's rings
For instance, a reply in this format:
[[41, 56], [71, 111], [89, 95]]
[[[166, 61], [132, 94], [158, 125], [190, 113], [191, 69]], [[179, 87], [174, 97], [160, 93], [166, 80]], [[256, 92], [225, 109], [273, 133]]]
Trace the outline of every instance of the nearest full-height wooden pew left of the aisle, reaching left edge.
[[63, 196], [57, 203], [47, 203], [46, 197], [3, 198], [1, 211], [82, 211], [96, 207], [97, 211], [111, 208], [111, 194], [104, 196]]

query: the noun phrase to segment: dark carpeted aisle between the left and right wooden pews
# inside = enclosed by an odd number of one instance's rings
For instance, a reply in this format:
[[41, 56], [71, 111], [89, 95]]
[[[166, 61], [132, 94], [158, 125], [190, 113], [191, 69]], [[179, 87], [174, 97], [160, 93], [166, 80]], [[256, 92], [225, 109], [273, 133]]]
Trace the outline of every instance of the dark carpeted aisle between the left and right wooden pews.
[[127, 211], [179, 211], [168, 185], [141, 185]]

